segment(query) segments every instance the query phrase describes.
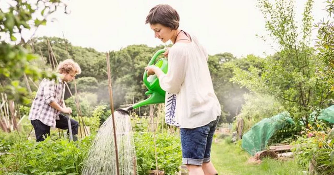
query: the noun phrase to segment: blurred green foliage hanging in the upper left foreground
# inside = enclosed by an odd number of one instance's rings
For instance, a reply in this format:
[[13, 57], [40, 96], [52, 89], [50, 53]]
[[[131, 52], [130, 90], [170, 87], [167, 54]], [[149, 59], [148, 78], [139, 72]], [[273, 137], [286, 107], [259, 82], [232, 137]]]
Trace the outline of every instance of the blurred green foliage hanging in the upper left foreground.
[[[27, 91], [19, 85], [19, 79], [26, 74], [36, 80], [41, 77], [54, 78], [55, 75], [50, 72], [40, 71], [32, 61], [37, 58], [36, 55], [29, 53], [28, 43], [24, 41], [21, 32], [37, 28], [46, 24], [46, 16], [56, 11], [57, 6], [64, 6], [60, 1], [37, 1], [36, 3], [15, 1], [15, 5], [10, 5], [8, 9], [0, 10], [0, 33], [3, 38], [10, 38], [11, 41], [17, 41], [18, 45], [11, 45], [2, 41], [0, 43], [0, 79], [2, 80], [0, 92], [5, 92], [9, 99], [17, 102], [29, 103]], [[65, 5], [66, 7], [66, 5]], [[42, 10], [42, 20], [37, 18], [36, 13]], [[39, 13], [39, 12], [38, 12]]]

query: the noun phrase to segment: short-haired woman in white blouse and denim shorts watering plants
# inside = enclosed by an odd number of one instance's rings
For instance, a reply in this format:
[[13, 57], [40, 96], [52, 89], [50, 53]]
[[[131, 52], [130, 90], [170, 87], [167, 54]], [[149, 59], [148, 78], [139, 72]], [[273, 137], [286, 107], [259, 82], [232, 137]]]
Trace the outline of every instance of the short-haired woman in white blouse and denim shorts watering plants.
[[148, 66], [148, 75], [156, 74], [166, 92], [176, 94], [176, 122], [180, 124], [182, 163], [190, 175], [215, 175], [210, 161], [212, 137], [221, 113], [207, 65], [208, 55], [197, 38], [179, 29], [180, 17], [169, 5], [157, 5], [146, 17], [162, 42], [171, 40], [168, 73]]

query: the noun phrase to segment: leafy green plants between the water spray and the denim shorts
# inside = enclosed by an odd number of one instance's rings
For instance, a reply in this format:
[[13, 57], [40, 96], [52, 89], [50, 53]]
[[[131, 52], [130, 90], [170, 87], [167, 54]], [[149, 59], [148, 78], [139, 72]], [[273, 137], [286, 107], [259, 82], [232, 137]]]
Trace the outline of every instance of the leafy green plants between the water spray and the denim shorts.
[[[148, 174], [156, 169], [153, 133], [135, 132], [138, 173]], [[158, 169], [166, 175], [175, 174], [181, 165], [181, 142], [179, 136], [156, 133]]]

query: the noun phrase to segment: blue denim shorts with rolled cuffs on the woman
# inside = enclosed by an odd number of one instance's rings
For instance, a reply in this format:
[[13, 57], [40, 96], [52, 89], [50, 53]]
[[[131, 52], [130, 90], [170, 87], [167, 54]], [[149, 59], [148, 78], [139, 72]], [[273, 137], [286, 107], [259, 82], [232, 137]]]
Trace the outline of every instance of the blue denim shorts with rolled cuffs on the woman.
[[219, 117], [205, 126], [181, 128], [182, 164], [199, 165], [210, 162], [210, 151], [214, 131]]

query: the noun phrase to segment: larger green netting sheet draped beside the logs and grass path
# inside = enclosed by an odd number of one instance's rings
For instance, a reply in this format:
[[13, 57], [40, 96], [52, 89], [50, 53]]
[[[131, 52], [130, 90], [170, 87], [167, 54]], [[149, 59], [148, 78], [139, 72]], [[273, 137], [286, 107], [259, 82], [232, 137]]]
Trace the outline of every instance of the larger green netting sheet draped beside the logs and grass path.
[[287, 112], [261, 120], [242, 136], [242, 149], [252, 156], [264, 150], [275, 131], [281, 129], [286, 122], [293, 123]]

